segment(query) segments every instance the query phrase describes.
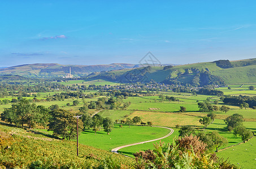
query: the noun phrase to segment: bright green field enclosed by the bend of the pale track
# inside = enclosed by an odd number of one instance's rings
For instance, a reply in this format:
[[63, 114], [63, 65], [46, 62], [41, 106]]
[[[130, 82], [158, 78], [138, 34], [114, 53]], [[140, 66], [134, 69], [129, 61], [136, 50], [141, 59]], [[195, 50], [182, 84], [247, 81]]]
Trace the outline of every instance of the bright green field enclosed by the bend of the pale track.
[[124, 125], [119, 127], [120, 124], [115, 124], [110, 135], [106, 132], [97, 132], [94, 135], [94, 131], [83, 131], [79, 136], [79, 143], [90, 145], [95, 148], [103, 150], [111, 150], [121, 145], [127, 145], [132, 143], [138, 143], [140, 141], [157, 139], [167, 135], [170, 130], [166, 128], [159, 127], [149, 127], [149, 126], [129, 126]]

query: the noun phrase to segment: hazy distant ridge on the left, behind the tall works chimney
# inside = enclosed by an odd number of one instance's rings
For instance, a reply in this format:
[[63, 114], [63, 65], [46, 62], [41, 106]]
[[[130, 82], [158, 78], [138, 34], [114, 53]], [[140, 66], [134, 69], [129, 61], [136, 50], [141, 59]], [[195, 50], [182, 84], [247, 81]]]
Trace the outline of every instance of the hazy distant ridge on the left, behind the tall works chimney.
[[[173, 65], [173, 64], [163, 64], [164, 65]], [[119, 69], [130, 69], [130, 68], [139, 68], [143, 65], [136, 64], [123, 64], [123, 63], [114, 63], [109, 65], [60, 65], [56, 63], [49, 64], [25, 64], [18, 66], [11, 66], [8, 68], [0, 68], [0, 75], [21, 75], [24, 77], [63, 77], [66, 73], [74, 75], [74, 77], [86, 76], [93, 72], [102, 72], [110, 70], [119, 70]]]

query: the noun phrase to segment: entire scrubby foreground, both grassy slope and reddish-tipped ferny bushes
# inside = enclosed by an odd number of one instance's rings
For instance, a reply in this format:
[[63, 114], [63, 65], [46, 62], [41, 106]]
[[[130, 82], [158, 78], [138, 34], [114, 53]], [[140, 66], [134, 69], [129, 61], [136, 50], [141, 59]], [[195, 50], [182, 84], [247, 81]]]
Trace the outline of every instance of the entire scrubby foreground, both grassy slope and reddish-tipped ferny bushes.
[[0, 168], [236, 168], [207, 152], [196, 136], [179, 137], [172, 144], [155, 144], [154, 150], [133, 158], [47, 137], [41, 132], [0, 125]]

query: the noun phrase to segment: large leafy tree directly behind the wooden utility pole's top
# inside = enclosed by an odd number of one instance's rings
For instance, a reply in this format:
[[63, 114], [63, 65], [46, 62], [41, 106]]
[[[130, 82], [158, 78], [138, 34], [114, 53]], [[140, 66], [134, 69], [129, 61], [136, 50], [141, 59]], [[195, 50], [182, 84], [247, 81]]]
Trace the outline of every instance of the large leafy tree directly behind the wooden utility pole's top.
[[[48, 131], [53, 131], [53, 136], [63, 139], [73, 139], [76, 136], [76, 118], [67, 110], [58, 109], [50, 112], [51, 118]], [[83, 122], [78, 119], [79, 132], [83, 129]]]

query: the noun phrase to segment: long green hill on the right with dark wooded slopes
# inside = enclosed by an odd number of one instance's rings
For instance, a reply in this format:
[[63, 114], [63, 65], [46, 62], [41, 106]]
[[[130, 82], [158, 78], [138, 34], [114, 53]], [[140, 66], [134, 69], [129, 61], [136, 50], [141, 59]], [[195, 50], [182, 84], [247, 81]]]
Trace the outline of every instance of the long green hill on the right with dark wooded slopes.
[[256, 58], [196, 63], [176, 66], [155, 66], [92, 73], [90, 79], [112, 82], [162, 82], [167, 84], [230, 84], [256, 82]]

